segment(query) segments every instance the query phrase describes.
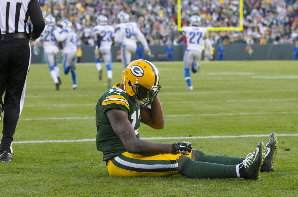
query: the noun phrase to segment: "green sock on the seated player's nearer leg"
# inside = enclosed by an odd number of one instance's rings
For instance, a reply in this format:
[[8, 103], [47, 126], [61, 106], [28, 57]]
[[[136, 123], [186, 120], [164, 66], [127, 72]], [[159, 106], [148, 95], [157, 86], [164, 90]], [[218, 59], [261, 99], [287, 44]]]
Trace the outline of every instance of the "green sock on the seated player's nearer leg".
[[237, 178], [236, 165], [197, 162], [186, 157], [179, 173], [190, 178]]

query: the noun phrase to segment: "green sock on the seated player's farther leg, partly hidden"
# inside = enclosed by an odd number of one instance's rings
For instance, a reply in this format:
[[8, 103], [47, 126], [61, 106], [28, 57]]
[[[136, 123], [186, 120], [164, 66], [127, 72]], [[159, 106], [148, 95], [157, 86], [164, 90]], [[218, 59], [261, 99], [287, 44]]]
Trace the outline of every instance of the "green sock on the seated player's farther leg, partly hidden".
[[197, 150], [195, 154], [195, 161], [197, 162], [208, 162], [223, 165], [237, 165], [242, 163], [243, 160], [245, 160], [245, 158], [242, 157], [207, 155], [200, 150]]

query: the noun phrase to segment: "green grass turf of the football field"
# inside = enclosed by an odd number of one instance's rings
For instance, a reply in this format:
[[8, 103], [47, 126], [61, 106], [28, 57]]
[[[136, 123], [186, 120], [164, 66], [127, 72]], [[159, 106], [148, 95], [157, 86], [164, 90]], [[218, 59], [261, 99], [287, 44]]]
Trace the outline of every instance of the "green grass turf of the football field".
[[[298, 79], [252, 78], [297, 76], [294, 61], [206, 62], [200, 73], [191, 74], [193, 91], [184, 90], [182, 62], [154, 64], [161, 75], [162, 89], [158, 95], [165, 115], [298, 111]], [[122, 63], [112, 63], [112, 68], [113, 83], [121, 82]], [[15, 141], [96, 137], [95, 119], [24, 120], [94, 117], [95, 105], [106, 90], [106, 71], [102, 81], [97, 78], [94, 63], [80, 63], [76, 71], [78, 90], [70, 90], [71, 75], [64, 75], [61, 69], [62, 85], [60, 91], [55, 91], [48, 67], [31, 65]], [[238, 75], [231, 75], [236, 72]], [[165, 117], [164, 129], [154, 130], [141, 124], [139, 133], [140, 137], [297, 134], [297, 117], [294, 113]], [[245, 157], [258, 142], [266, 144], [268, 138], [269, 135], [190, 141], [193, 148], [208, 154]], [[1, 196], [297, 196], [298, 136], [277, 139], [276, 172], [261, 173], [258, 181], [190, 179], [180, 175], [110, 177], [96, 142], [14, 144], [14, 161], [0, 163], [0, 193]]]

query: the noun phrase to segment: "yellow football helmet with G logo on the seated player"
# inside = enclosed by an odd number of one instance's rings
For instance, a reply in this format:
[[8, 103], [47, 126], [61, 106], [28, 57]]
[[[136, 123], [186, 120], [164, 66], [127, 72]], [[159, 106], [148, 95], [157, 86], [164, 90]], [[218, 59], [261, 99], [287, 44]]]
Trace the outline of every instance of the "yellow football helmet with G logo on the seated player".
[[128, 64], [122, 80], [126, 93], [135, 95], [134, 100], [141, 107], [150, 105], [160, 89], [159, 72], [153, 63], [146, 60], [135, 60]]

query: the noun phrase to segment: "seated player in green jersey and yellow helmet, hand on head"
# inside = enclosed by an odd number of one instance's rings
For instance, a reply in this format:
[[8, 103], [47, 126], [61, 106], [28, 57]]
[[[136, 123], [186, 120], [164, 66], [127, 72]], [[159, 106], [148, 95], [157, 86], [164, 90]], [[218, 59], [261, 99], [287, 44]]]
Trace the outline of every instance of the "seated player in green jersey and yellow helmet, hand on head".
[[[277, 141], [272, 133], [265, 146], [257, 145], [246, 158], [207, 155], [190, 142], [158, 144], [139, 139], [139, 126], [164, 127], [157, 93], [160, 75], [145, 60], [131, 62], [116, 83], [100, 97], [96, 111], [96, 145], [111, 176], [171, 176], [191, 178], [258, 179], [260, 170], [274, 170]], [[148, 105], [151, 105], [149, 107]], [[263, 163], [263, 165], [262, 165]]]

